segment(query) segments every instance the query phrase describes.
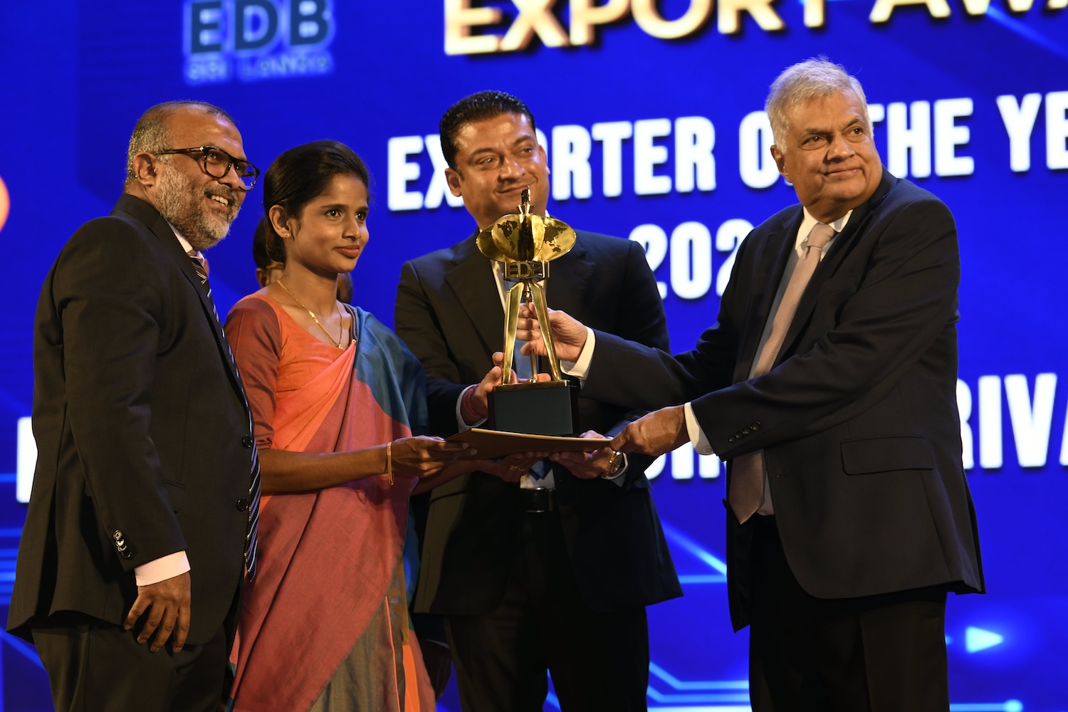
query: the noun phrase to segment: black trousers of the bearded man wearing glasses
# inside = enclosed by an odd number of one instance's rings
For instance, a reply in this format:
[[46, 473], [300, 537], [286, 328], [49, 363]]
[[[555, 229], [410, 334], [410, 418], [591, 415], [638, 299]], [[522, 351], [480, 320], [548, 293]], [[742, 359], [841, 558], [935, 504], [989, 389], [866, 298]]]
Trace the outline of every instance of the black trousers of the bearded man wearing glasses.
[[222, 699], [225, 629], [174, 654], [138, 645], [139, 627], [61, 613], [33, 629], [57, 712], [215, 712]]

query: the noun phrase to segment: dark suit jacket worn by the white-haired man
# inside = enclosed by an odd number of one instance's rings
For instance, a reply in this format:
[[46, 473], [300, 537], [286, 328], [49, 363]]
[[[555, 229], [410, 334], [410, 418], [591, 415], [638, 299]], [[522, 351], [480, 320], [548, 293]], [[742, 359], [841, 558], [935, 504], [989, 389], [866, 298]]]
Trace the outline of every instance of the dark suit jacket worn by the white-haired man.
[[672, 358], [597, 334], [585, 392], [645, 408], [692, 400], [721, 458], [763, 448], [783, 549], [808, 594], [980, 591], [956, 397], [953, 216], [884, 172], [817, 267], [775, 366], [750, 380], [801, 219], [794, 206], [750, 234], [695, 350]]

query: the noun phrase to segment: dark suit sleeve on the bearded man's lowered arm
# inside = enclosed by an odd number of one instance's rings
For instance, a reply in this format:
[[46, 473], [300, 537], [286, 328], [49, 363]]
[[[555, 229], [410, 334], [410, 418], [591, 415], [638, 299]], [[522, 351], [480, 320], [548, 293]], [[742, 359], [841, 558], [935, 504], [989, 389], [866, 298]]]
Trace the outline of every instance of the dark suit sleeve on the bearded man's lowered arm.
[[[62, 325], [66, 407], [103, 536], [132, 542], [127, 571], [186, 549], [150, 434], [167, 281], [144, 237], [114, 218], [70, 238], [52, 300]], [[151, 237], [150, 239], [155, 239]]]

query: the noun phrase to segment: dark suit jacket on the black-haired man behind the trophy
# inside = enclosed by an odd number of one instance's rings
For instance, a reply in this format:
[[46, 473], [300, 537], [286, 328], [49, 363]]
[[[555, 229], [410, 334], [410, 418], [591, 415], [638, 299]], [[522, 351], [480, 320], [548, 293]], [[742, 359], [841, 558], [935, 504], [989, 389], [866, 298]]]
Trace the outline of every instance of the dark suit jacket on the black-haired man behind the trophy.
[[[549, 306], [623, 338], [668, 348], [656, 281], [641, 248], [629, 240], [578, 233], [552, 263]], [[423, 363], [431, 427], [456, 432], [456, 400], [492, 367], [503, 349], [504, 311], [489, 259], [474, 236], [406, 263], [397, 290], [397, 334]], [[607, 432], [625, 408], [579, 399], [582, 430]], [[579, 479], [554, 469], [564, 536], [583, 600], [619, 611], [681, 596], [644, 470], [634, 458], [624, 487]], [[485, 473], [436, 488], [430, 500], [415, 608], [478, 615], [500, 602], [519, 550], [518, 485]]]

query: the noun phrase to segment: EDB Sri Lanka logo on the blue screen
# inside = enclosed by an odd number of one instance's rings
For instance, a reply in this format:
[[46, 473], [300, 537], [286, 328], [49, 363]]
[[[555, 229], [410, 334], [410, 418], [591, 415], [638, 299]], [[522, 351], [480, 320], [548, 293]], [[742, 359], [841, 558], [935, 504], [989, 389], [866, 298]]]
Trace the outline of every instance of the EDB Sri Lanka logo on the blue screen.
[[327, 74], [331, 0], [192, 0], [185, 5], [190, 84]]

